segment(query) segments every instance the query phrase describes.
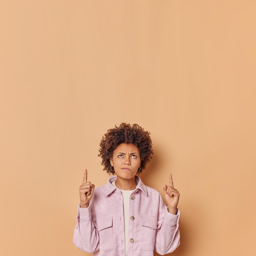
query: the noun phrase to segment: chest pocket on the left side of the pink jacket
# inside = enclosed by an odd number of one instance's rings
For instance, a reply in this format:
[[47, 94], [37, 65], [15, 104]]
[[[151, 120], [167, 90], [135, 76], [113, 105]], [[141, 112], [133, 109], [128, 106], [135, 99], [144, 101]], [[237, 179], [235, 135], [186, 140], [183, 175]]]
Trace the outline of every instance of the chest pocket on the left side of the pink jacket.
[[99, 231], [99, 250], [110, 251], [114, 249], [112, 217], [97, 218]]

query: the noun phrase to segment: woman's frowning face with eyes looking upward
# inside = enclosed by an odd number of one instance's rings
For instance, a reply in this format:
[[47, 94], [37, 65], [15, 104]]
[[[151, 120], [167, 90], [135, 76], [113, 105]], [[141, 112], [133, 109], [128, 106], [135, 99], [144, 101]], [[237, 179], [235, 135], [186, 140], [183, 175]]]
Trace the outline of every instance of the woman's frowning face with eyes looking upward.
[[139, 149], [134, 144], [119, 144], [110, 158], [110, 164], [119, 178], [132, 179], [141, 164]]

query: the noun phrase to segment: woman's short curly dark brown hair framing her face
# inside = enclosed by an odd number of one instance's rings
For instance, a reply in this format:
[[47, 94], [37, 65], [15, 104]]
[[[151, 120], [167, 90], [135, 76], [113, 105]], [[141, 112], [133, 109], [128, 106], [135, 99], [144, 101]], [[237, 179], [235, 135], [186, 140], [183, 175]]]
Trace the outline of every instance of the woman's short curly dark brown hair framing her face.
[[130, 125], [126, 123], [121, 123], [119, 126], [109, 129], [102, 136], [98, 156], [102, 158], [101, 165], [104, 166], [103, 170], [106, 170], [109, 175], [111, 173], [115, 174], [115, 171], [110, 169], [110, 158], [113, 156], [117, 146], [122, 143], [134, 144], [139, 149], [141, 169], [138, 174], [141, 173], [146, 168], [146, 164], [152, 159], [151, 155], [153, 155], [150, 132], [145, 131], [137, 124]]

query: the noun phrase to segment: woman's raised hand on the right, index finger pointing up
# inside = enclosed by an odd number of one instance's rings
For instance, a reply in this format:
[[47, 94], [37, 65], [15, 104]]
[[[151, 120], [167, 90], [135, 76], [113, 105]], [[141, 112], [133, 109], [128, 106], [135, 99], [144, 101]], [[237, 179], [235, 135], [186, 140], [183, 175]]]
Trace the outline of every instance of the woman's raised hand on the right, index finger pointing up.
[[168, 212], [177, 214], [177, 204], [179, 202], [180, 193], [173, 188], [173, 178], [170, 174], [170, 186], [164, 185], [164, 198], [168, 207]]

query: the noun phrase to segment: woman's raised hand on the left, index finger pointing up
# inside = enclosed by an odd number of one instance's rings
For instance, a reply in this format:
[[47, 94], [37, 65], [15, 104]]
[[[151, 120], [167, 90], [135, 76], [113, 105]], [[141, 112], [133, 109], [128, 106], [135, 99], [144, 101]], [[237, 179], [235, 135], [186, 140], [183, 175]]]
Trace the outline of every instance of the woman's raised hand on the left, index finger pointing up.
[[80, 186], [80, 207], [87, 208], [89, 206], [89, 201], [92, 199], [93, 191], [95, 185], [90, 181], [87, 181], [87, 170], [83, 176], [83, 184]]

